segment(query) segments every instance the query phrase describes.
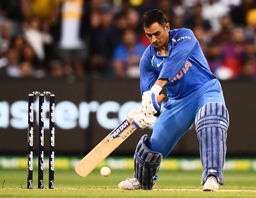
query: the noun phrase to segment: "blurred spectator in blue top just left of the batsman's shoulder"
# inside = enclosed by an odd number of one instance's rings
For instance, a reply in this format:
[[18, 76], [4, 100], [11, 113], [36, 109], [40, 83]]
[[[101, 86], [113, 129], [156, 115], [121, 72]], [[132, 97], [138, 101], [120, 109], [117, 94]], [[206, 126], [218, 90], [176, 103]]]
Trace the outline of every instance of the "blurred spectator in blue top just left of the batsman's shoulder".
[[135, 31], [128, 29], [123, 33], [123, 42], [114, 50], [113, 67], [118, 77], [139, 77], [140, 57], [145, 46], [137, 43]]

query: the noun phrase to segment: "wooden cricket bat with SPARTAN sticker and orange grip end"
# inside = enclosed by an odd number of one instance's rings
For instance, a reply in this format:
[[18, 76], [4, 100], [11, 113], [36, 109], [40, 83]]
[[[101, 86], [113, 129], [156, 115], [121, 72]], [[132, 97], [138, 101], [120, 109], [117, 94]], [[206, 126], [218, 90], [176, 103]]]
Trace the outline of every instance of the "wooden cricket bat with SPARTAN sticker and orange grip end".
[[[157, 96], [157, 103], [163, 98], [164, 94]], [[81, 177], [86, 177], [136, 129], [137, 128], [132, 124], [131, 119], [125, 119], [76, 165], [76, 173]]]

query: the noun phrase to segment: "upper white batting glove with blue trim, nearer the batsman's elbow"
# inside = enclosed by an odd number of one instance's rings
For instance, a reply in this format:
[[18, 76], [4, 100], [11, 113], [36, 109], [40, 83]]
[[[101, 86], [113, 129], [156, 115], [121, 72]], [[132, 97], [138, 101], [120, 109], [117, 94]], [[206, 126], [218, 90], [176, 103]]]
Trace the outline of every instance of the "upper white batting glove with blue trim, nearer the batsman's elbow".
[[142, 111], [146, 116], [153, 115], [160, 111], [160, 106], [157, 103], [157, 96], [159, 96], [162, 87], [153, 85], [149, 91], [145, 91], [142, 95]]

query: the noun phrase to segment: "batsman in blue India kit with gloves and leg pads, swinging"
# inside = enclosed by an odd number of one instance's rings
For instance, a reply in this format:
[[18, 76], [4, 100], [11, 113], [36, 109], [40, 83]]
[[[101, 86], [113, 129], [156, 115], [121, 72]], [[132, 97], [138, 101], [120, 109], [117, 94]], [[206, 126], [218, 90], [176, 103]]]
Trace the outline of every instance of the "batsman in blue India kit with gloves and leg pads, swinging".
[[[204, 191], [224, 184], [223, 164], [229, 125], [220, 82], [211, 73], [199, 42], [190, 29], [170, 30], [161, 10], [149, 10], [142, 24], [151, 44], [140, 59], [142, 110], [128, 117], [137, 128], [154, 123], [150, 139], [140, 139], [134, 155], [134, 177], [121, 189], [153, 189], [160, 163], [195, 121]], [[157, 96], [165, 87], [168, 102], [160, 114]], [[160, 115], [159, 115], [160, 114]], [[154, 116], [153, 116], [154, 115]], [[155, 116], [159, 116], [156, 120]]]

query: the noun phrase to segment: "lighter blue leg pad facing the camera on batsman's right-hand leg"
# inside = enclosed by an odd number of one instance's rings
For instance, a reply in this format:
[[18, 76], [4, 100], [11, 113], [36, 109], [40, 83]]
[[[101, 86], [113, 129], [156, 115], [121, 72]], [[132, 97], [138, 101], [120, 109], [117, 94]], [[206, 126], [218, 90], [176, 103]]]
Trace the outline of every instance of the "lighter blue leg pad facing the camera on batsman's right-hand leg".
[[226, 138], [229, 125], [228, 110], [219, 102], [202, 106], [195, 116], [195, 129], [199, 140], [203, 166], [201, 184], [208, 175], [214, 175], [223, 185], [223, 165], [226, 156]]

